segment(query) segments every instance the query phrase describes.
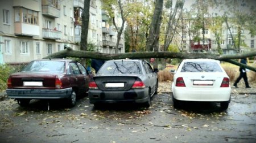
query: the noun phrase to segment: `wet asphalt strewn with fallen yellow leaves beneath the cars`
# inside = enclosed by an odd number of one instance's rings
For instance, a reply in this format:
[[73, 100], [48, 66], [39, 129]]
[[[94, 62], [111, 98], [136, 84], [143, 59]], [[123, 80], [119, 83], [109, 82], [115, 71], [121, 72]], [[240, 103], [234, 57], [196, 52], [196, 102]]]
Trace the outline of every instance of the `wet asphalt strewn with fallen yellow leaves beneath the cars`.
[[0, 101], [0, 142], [255, 142], [256, 94], [232, 94], [229, 109], [218, 103], [172, 106], [171, 95], [152, 98], [150, 109], [133, 104], [94, 109], [88, 97], [71, 109], [60, 101], [19, 107]]

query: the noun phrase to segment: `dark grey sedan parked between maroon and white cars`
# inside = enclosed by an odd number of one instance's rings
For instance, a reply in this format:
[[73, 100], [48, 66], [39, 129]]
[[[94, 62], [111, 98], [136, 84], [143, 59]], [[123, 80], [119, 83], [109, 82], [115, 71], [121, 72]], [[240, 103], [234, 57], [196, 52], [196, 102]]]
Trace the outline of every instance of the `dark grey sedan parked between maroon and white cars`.
[[100, 103], [135, 102], [150, 107], [158, 92], [157, 69], [146, 60], [119, 59], [105, 62], [89, 83], [89, 100]]

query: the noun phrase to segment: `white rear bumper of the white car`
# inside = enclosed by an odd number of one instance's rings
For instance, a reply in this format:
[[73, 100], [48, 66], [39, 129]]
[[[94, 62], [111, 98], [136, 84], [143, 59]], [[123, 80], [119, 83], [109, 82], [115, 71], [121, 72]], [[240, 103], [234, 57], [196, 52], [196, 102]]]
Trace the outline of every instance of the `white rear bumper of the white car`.
[[175, 87], [172, 92], [174, 98], [180, 101], [222, 102], [230, 101], [231, 89], [187, 89], [184, 87]]

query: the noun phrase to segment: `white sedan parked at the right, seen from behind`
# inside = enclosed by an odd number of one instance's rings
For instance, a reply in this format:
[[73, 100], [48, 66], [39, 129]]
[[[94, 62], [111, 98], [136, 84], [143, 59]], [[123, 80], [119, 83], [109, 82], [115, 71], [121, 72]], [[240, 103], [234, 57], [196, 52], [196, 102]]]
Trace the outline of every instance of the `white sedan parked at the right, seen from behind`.
[[220, 102], [221, 109], [228, 109], [231, 88], [229, 76], [213, 59], [184, 59], [174, 72], [172, 101]]

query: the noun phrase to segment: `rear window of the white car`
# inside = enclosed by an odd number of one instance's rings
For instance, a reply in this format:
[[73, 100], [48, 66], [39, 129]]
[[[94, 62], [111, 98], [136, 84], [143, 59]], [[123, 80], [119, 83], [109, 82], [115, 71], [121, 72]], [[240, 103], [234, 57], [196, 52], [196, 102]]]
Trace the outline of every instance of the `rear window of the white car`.
[[185, 62], [181, 72], [222, 72], [216, 62]]

